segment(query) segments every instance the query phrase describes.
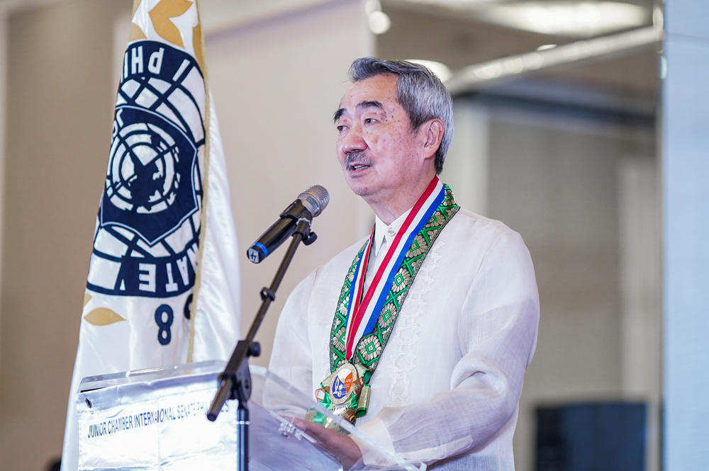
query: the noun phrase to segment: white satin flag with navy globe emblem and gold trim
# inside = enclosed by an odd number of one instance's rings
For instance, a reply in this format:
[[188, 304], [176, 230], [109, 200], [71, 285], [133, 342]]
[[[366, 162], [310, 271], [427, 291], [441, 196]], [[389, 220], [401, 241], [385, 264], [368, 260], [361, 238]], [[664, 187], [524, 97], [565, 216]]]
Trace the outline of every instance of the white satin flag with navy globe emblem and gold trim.
[[62, 470], [82, 378], [226, 360], [238, 259], [196, 0], [134, 0], [86, 280]]

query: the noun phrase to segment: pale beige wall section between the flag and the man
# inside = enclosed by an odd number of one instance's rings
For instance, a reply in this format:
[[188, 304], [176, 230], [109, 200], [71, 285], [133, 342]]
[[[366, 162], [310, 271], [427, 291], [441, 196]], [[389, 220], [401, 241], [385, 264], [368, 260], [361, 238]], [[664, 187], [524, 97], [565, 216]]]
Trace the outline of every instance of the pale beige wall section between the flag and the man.
[[[267, 365], [278, 313], [296, 283], [366, 236], [369, 208], [345, 186], [331, 117], [352, 59], [371, 54], [357, 1], [331, 2], [208, 35], [208, 76], [224, 144], [240, 254], [311, 185], [330, 192], [313, 220], [318, 240], [301, 246], [259, 331]], [[364, 221], [364, 222], [362, 222]], [[246, 332], [285, 247], [255, 265], [242, 258]]]

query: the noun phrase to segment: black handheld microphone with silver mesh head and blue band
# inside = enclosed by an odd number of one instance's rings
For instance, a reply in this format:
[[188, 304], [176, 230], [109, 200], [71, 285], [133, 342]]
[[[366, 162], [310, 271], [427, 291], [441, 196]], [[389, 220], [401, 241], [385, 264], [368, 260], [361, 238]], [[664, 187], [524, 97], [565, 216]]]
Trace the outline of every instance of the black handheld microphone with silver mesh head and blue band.
[[261, 263], [272, 251], [291, 237], [298, 225], [298, 220], [306, 218], [308, 222], [319, 216], [330, 203], [330, 193], [320, 185], [311, 186], [298, 195], [298, 199], [281, 212], [280, 219], [261, 234], [249, 247], [246, 255], [253, 263]]

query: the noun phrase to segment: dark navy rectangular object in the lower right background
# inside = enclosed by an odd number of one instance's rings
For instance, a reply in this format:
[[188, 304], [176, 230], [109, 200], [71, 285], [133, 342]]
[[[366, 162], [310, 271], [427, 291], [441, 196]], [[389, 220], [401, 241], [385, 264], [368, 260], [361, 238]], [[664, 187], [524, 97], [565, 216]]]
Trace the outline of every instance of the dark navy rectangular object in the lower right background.
[[537, 407], [536, 471], [644, 471], [644, 403]]

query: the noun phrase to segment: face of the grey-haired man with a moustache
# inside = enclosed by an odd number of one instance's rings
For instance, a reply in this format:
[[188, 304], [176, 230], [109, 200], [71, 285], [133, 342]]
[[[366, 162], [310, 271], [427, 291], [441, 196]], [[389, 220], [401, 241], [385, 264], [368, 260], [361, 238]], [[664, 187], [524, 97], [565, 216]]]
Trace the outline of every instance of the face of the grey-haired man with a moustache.
[[[411, 130], [396, 101], [393, 74], [350, 86], [335, 115], [337, 159], [347, 184], [367, 203], [387, 204], [406, 192], [422, 172], [422, 132]], [[427, 182], [428, 183], [428, 182]]]

